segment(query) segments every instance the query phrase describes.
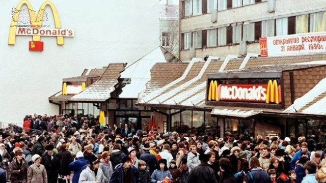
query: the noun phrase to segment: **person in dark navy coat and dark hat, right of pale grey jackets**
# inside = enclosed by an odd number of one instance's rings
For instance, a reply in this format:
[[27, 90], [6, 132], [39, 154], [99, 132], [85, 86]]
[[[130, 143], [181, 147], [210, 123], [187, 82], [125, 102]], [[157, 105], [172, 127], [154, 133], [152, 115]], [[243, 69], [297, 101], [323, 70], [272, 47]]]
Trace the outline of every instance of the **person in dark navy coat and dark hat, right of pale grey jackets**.
[[136, 167], [132, 165], [129, 156], [124, 156], [111, 176], [110, 183], [140, 183], [140, 174]]

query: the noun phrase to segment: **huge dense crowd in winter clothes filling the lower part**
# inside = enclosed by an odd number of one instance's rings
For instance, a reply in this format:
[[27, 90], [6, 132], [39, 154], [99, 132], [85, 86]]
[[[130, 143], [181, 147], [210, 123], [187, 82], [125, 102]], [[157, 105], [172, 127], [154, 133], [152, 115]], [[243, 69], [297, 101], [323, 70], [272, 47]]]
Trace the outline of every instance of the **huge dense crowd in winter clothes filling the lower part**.
[[36, 114], [0, 134], [0, 182], [326, 182], [316, 137], [161, 134]]

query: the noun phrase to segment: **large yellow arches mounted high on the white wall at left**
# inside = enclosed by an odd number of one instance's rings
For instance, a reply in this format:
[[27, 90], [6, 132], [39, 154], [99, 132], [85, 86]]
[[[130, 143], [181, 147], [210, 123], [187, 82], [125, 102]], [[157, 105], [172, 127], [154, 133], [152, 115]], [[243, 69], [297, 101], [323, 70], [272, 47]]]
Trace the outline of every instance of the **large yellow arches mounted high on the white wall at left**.
[[[31, 25], [36, 25], [36, 27], [41, 26], [42, 21], [38, 21], [38, 20], [42, 19], [44, 12], [39, 11], [38, 15], [35, 17], [33, 6], [31, 5], [31, 3], [28, 0], [21, 0], [17, 5], [16, 10], [20, 11], [20, 9], [23, 5], [26, 5], [27, 8], [29, 9]], [[56, 6], [50, 1], [45, 1], [44, 3], [42, 3], [39, 10], [44, 10], [46, 6], [49, 6], [51, 8], [53, 20], [55, 21], [55, 27], [61, 28], [61, 22], [60, 22], [60, 18], [59, 18]], [[9, 39], [8, 39], [9, 45], [14, 45], [16, 42], [16, 29], [17, 29], [17, 22], [14, 21], [14, 19], [11, 19], [10, 29], [9, 29]], [[33, 36], [33, 41], [40, 41], [40, 40], [41, 40], [40, 36]], [[57, 44], [64, 45], [64, 40], [63, 40], [62, 36], [57, 36]]]

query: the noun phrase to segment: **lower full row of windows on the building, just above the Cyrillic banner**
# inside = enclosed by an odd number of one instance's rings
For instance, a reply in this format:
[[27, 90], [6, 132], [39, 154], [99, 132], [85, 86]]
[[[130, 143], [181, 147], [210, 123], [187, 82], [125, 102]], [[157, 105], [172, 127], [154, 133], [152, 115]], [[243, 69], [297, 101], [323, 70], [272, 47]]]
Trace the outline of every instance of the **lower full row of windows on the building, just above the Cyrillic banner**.
[[254, 23], [234, 23], [228, 27], [181, 34], [181, 49], [216, 47], [254, 42], [260, 37], [300, 33], [326, 32], [326, 12], [265, 20]]

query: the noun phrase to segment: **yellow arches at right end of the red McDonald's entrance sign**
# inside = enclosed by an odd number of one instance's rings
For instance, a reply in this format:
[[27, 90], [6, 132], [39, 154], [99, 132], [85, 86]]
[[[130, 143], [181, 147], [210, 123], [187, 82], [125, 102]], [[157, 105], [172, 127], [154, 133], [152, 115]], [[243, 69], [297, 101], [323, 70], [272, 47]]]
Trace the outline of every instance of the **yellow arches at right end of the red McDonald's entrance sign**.
[[269, 102], [281, 103], [281, 87], [278, 85], [277, 80], [268, 81], [266, 103], [268, 104]]

